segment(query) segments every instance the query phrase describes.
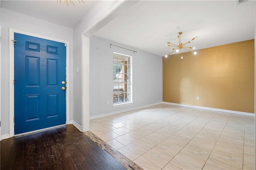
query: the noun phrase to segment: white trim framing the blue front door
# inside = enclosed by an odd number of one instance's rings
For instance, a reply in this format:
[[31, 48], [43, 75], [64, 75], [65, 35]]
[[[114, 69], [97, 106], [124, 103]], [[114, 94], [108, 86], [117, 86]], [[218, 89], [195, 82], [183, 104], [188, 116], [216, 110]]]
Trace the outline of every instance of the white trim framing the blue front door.
[[34, 34], [30, 32], [25, 32], [21, 30], [16, 30], [9, 28], [9, 136], [14, 136], [14, 85], [13, 85], [13, 79], [14, 79], [14, 46], [12, 40], [14, 40], [14, 33], [24, 34], [27, 36], [33, 36], [37, 38], [43, 38], [46, 40], [52, 40], [56, 42], [66, 43], [66, 124], [69, 123], [69, 97], [70, 97], [70, 82], [69, 82], [69, 76], [70, 76], [70, 70], [69, 70], [69, 42], [66, 40], [60, 40], [57, 38], [52, 38], [48, 36], [42, 36], [39, 34]]

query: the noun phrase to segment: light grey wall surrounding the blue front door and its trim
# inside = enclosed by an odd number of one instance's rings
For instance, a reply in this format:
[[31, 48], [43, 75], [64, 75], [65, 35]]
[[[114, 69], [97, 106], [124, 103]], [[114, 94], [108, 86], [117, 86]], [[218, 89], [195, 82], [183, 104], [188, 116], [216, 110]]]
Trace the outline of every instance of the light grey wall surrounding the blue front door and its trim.
[[9, 28], [70, 42], [70, 120], [73, 120], [73, 29], [1, 8], [1, 135], [9, 134]]

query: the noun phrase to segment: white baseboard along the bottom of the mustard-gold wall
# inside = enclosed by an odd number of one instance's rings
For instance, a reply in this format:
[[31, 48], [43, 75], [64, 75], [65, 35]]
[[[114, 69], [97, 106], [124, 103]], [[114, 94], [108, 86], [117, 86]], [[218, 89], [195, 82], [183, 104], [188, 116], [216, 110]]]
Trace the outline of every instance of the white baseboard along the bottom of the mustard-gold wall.
[[212, 108], [212, 107], [202, 107], [202, 106], [194, 106], [194, 105], [184, 105], [184, 104], [170, 103], [170, 102], [165, 102], [165, 101], [163, 101], [162, 103], [163, 103], [163, 104], [168, 104], [168, 105], [192, 107], [192, 108], [196, 108], [196, 109], [206, 109], [206, 110], [211, 110], [211, 111], [220, 111], [220, 112], [234, 113], [234, 114], [239, 114], [239, 115], [255, 116], [254, 113], [247, 113], [247, 112], [240, 112], [240, 111], [231, 111], [231, 110], [226, 110], [226, 109], [216, 109], [216, 108]]

